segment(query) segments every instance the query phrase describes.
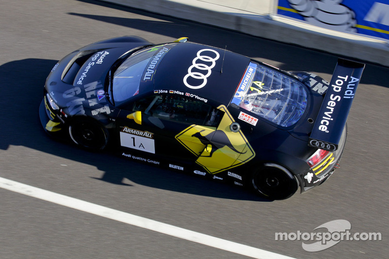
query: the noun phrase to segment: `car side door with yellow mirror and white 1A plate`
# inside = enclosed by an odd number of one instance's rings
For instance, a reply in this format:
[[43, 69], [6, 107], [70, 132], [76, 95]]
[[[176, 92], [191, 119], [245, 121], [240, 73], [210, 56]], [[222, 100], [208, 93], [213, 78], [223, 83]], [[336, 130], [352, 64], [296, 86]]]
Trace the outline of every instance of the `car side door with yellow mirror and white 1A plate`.
[[[200, 130], [216, 130], [217, 109], [183, 94], [153, 94], [122, 109], [116, 121], [120, 145], [145, 155], [193, 164], [206, 145], [198, 138], [179, 133], [196, 125]], [[191, 143], [188, 149], [185, 143]]]

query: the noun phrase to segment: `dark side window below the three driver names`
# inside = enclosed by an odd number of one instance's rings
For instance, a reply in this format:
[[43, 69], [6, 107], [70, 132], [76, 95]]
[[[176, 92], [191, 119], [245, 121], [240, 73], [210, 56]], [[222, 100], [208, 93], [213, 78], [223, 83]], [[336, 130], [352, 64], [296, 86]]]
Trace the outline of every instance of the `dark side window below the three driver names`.
[[217, 126], [223, 112], [202, 101], [167, 94], [153, 95], [135, 102], [133, 111], [188, 124]]

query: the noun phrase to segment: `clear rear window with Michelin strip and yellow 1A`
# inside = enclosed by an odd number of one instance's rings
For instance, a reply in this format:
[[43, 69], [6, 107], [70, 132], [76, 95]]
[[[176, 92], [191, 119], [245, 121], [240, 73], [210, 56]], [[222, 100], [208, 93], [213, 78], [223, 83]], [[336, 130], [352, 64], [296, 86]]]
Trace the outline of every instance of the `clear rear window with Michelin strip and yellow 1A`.
[[288, 127], [304, 113], [307, 93], [299, 81], [251, 62], [231, 104]]

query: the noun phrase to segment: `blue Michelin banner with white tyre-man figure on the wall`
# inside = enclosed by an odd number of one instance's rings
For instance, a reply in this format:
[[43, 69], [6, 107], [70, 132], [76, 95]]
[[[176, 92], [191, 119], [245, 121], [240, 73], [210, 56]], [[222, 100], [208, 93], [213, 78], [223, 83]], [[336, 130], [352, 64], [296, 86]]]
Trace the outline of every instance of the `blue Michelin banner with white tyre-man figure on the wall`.
[[389, 0], [278, 0], [277, 14], [322, 28], [389, 39]]

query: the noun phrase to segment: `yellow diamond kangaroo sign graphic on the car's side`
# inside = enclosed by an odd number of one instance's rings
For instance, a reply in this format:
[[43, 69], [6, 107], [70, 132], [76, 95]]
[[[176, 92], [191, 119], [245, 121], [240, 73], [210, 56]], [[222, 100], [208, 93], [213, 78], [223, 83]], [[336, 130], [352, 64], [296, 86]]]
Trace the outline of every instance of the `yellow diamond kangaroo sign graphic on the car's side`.
[[224, 112], [224, 116], [217, 128], [191, 125], [176, 136], [182, 145], [197, 156], [196, 163], [212, 174], [240, 166], [255, 156], [242, 131], [230, 131], [230, 124], [234, 120], [226, 106], [221, 105], [218, 109]]

